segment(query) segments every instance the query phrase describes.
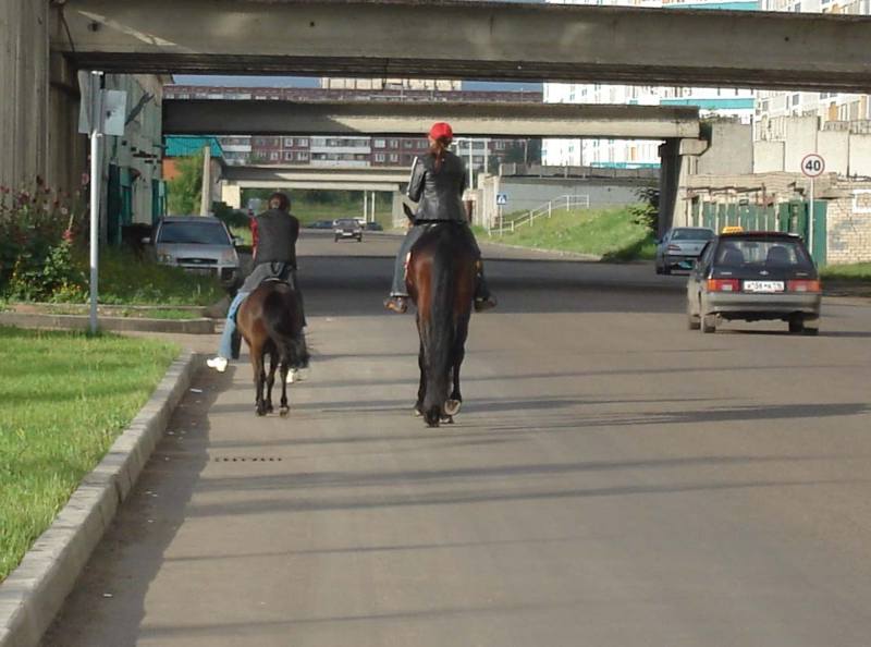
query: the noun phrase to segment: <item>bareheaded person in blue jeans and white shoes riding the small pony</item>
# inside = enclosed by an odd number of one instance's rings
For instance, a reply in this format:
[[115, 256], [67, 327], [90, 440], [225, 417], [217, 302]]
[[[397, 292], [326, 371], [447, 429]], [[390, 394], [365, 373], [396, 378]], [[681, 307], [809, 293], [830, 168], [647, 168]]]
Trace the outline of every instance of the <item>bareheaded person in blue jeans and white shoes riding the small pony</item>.
[[[233, 337], [236, 333], [236, 313], [242, 302], [267, 279], [278, 279], [290, 283], [296, 295], [298, 312], [305, 326], [305, 315], [302, 315], [303, 298], [296, 284], [296, 241], [299, 237], [299, 221], [291, 215], [291, 200], [285, 194], [273, 193], [269, 196], [268, 204], [269, 209], [252, 221], [254, 269], [230, 304], [218, 355], [206, 362], [209, 367], [219, 373], [226, 370], [231, 357], [236, 358], [233, 354]], [[300, 334], [303, 333], [300, 332]], [[305, 347], [304, 335], [302, 344]], [[302, 353], [300, 356], [307, 357], [308, 354]], [[305, 365], [299, 364], [293, 368], [305, 368]]]

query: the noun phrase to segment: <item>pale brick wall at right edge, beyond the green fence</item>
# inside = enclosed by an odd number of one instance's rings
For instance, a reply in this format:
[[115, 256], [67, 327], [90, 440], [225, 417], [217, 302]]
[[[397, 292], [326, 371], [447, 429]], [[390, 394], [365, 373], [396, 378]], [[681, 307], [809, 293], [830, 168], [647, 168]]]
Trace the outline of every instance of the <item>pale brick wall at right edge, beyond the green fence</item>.
[[871, 261], [871, 182], [850, 183], [846, 195], [827, 202], [827, 263]]

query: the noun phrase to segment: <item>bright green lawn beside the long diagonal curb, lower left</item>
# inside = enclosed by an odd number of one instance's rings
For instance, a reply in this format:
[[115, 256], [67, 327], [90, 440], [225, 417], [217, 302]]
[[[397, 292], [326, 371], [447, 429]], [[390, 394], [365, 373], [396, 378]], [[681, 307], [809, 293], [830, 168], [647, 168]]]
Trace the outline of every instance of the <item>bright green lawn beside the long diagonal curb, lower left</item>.
[[179, 349], [0, 327], [0, 581], [51, 524]]

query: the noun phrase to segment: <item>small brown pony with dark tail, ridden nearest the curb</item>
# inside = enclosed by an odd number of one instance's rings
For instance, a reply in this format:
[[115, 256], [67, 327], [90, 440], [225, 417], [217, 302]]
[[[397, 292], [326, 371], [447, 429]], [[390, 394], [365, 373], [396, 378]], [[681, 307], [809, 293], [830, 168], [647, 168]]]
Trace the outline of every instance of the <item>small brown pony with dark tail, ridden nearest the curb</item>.
[[[236, 325], [248, 344], [257, 389], [256, 412], [263, 416], [273, 411], [272, 384], [275, 368], [281, 367], [282, 417], [290, 412], [287, 405], [287, 373], [308, 363], [308, 352], [303, 343], [303, 313], [294, 289], [283, 281], [266, 281], [252, 292], [236, 315]], [[269, 374], [266, 356], [269, 355]]]

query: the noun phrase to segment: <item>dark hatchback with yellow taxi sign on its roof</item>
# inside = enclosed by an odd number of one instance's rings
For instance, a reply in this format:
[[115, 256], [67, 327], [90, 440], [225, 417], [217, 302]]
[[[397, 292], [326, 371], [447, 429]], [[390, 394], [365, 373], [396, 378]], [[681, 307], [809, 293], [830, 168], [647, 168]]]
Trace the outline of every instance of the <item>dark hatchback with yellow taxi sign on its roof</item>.
[[720, 319], [780, 319], [789, 332], [817, 334], [821, 293], [817, 267], [797, 235], [721, 234], [689, 274], [688, 326], [715, 332]]

